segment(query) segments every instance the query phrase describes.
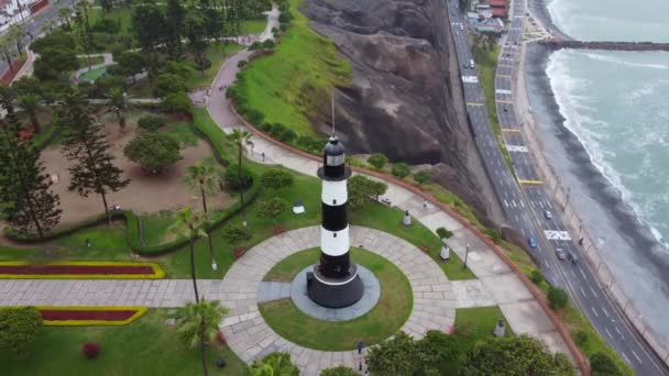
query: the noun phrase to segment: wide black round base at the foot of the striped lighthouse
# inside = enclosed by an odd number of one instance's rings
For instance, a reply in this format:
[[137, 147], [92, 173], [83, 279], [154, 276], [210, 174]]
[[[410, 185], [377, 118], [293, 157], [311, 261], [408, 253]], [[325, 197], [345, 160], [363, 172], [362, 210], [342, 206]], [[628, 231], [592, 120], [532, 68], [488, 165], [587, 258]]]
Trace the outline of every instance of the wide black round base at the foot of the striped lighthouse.
[[364, 285], [355, 265], [347, 278], [333, 279], [322, 276], [318, 265], [307, 273], [307, 295], [314, 302], [327, 308], [344, 308], [358, 302], [364, 294]]

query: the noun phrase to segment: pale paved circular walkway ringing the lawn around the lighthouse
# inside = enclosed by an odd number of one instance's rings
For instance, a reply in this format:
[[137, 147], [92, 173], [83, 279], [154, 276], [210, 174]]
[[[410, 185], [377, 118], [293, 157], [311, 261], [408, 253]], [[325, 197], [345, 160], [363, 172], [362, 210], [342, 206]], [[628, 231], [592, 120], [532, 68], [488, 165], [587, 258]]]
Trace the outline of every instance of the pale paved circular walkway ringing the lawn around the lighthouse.
[[[415, 245], [386, 232], [351, 226], [350, 236], [352, 245], [391, 261], [409, 280], [414, 306], [402, 328], [404, 332], [414, 338], [423, 338], [428, 330], [450, 330], [456, 319], [451, 283], [429, 256]], [[319, 245], [320, 226], [288, 231], [251, 248], [232, 264], [223, 277], [227, 288], [240, 292], [229, 294], [224, 301], [230, 308], [230, 314], [223, 321], [222, 330], [230, 347], [244, 362], [279, 351], [292, 354], [303, 375], [318, 375], [321, 369], [338, 365], [358, 368], [361, 360], [355, 351], [316, 351], [288, 342], [267, 325], [257, 308], [260, 283], [270, 269], [296, 252]]]

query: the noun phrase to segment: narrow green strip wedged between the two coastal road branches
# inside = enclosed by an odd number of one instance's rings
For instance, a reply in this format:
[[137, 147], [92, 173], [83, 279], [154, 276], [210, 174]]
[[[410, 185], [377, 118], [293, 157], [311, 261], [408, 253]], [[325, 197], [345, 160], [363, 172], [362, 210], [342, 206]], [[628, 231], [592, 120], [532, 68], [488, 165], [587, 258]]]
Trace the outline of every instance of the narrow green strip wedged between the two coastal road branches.
[[485, 106], [487, 107], [487, 113], [490, 123], [493, 128], [493, 133], [500, 143], [500, 150], [502, 151], [502, 155], [504, 155], [504, 161], [506, 161], [506, 165], [513, 173], [514, 169], [511, 164], [511, 156], [508, 155], [506, 144], [502, 137], [502, 129], [500, 128], [497, 110], [495, 107], [495, 69], [497, 67], [498, 55], [500, 46], [497, 44], [493, 44], [493, 47], [490, 51], [476, 48], [474, 51], [474, 60], [476, 60], [476, 65], [479, 67], [479, 77], [481, 78], [481, 87], [483, 87], [483, 93], [485, 95]]

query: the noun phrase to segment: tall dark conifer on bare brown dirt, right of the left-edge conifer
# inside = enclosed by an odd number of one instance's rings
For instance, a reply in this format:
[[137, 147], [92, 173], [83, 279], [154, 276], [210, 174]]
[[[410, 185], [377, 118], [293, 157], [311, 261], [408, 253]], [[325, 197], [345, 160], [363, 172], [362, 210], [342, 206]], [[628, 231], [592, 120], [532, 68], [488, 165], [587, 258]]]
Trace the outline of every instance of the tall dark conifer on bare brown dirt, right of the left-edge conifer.
[[85, 98], [77, 91], [64, 98], [58, 120], [65, 128], [63, 152], [67, 159], [75, 162], [68, 168], [72, 174], [68, 189], [83, 197], [91, 192], [100, 195], [107, 222], [111, 223], [107, 193], [124, 188], [130, 180], [123, 179], [122, 170], [113, 164], [102, 124], [90, 115]]

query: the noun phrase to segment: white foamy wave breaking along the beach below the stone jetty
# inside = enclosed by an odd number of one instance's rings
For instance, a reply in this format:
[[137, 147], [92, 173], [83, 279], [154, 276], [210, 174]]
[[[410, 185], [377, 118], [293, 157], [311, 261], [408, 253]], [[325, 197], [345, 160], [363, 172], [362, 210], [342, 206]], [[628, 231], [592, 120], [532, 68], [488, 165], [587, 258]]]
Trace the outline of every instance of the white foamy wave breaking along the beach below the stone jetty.
[[[593, 84], [588, 79], [577, 78], [570, 74], [568, 68], [568, 63], [571, 58], [570, 54], [573, 54], [573, 52], [558, 51], [553, 53], [550, 56], [546, 68], [546, 74], [558, 104], [558, 110], [564, 118], [564, 126], [579, 140], [580, 144], [583, 145], [593, 166], [604, 176], [608, 184], [619, 192], [623, 202], [633, 210], [638, 223], [647, 228], [655, 240], [663, 245], [654, 251], [669, 254], [669, 240], [666, 241], [661, 232], [647, 220], [647, 211], [644, 210], [643, 204], [636, 202], [637, 200], [635, 200], [634, 193], [625, 187], [622, 179], [623, 175], [611, 163], [606, 162], [606, 156], [611, 157], [615, 155], [614, 151], [607, 151], [602, 145], [603, 139], [607, 136], [607, 132], [604, 130], [611, 128], [611, 124], [594, 119], [589, 114], [594, 108], [586, 103], [584, 100], [586, 99], [586, 95], [581, 92], [589, 91], [583, 90], [583, 88], [590, 87]], [[599, 130], [596, 132], [592, 131], [583, 126], [583, 124], [596, 125]]]

